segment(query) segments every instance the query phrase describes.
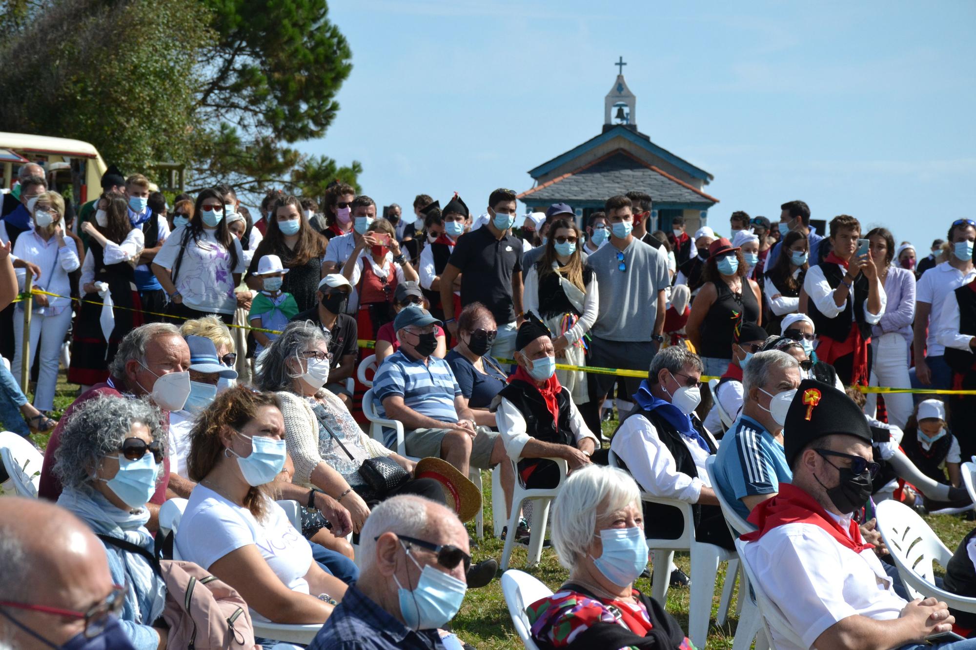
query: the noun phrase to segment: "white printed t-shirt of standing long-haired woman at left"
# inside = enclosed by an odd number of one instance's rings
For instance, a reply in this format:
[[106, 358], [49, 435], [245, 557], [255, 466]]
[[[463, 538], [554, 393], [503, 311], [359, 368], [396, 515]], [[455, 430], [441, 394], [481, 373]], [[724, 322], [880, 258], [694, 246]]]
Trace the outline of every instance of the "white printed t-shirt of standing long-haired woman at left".
[[[185, 227], [178, 227], [166, 239], [166, 243], [156, 253], [156, 264], [171, 271], [176, 269]], [[240, 240], [232, 236], [230, 239], [237, 253], [237, 265], [230, 267], [230, 255], [224, 244], [217, 241], [216, 232], [216, 229], [204, 228], [199, 241], [193, 241], [192, 237], [187, 241], [180, 275], [177, 277], [177, 291], [183, 296], [183, 305], [192, 309], [233, 313], [237, 308], [233, 273], [243, 273], [247, 264], [244, 262]]]

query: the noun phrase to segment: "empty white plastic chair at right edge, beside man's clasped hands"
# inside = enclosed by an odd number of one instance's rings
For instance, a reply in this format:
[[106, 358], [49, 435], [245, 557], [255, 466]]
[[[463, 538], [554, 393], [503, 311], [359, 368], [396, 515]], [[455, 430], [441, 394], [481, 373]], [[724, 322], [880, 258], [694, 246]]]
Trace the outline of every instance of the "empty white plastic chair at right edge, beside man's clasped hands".
[[976, 598], [956, 595], [935, 586], [932, 565], [938, 563], [946, 568], [953, 551], [946, 548], [914, 509], [898, 501], [882, 501], [877, 505], [876, 516], [881, 539], [895, 560], [905, 589], [913, 598], [935, 596], [954, 609], [976, 613]]

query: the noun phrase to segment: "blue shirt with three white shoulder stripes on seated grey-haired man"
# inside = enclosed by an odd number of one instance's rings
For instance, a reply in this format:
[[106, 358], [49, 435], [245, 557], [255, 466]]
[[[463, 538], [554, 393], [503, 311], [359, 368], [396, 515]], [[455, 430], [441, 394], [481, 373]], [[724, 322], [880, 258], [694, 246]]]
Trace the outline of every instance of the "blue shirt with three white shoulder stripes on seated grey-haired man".
[[783, 445], [752, 418], [740, 415], [732, 424], [715, 455], [716, 488], [745, 519], [749, 508], [743, 497], [775, 494], [780, 483], [792, 483]]

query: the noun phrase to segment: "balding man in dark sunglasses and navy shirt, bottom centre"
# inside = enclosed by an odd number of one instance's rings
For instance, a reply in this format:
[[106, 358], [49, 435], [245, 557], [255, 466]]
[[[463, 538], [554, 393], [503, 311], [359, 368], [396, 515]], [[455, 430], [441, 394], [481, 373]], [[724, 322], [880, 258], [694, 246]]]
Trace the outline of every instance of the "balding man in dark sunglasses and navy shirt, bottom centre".
[[373, 508], [360, 540], [359, 582], [308, 650], [460, 648], [457, 637], [438, 630], [467, 591], [471, 556], [458, 516], [422, 497], [392, 497]]

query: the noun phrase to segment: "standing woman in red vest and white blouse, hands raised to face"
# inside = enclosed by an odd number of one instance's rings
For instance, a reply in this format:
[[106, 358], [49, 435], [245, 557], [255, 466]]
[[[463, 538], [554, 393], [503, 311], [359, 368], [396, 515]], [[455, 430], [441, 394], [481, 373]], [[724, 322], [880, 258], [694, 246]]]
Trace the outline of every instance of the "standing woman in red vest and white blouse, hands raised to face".
[[370, 224], [343, 265], [343, 275], [356, 287], [359, 308], [356, 325], [360, 339], [375, 339], [393, 320], [396, 285], [417, 281], [417, 271], [400, 251], [393, 224], [378, 219]]

